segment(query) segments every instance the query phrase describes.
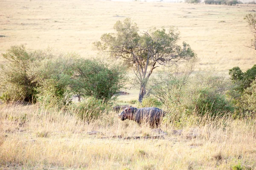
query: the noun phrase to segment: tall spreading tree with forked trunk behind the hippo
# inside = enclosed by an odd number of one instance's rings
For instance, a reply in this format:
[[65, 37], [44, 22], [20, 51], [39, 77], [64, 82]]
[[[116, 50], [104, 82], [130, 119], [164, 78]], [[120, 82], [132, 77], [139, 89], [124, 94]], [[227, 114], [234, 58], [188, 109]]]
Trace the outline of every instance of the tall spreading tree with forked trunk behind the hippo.
[[139, 101], [148, 95], [146, 85], [154, 69], [166, 63], [189, 60], [196, 56], [189, 44], [177, 45], [179, 33], [174, 28], [166, 31], [151, 29], [139, 34], [136, 23], [129, 18], [114, 25], [116, 33], [104, 34], [96, 48], [108, 52], [111, 57], [121, 58], [130, 66], [140, 85]]

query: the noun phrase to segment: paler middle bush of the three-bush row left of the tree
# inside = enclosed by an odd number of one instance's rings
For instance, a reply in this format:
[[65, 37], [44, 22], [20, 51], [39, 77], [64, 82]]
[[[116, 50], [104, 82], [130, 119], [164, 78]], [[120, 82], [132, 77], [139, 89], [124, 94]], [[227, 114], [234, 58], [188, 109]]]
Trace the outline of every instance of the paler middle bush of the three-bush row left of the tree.
[[45, 55], [41, 65], [35, 69], [39, 84], [37, 99], [45, 106], [65, 106], [73, 95], [70, 83], [78, 55], [56, 52]]

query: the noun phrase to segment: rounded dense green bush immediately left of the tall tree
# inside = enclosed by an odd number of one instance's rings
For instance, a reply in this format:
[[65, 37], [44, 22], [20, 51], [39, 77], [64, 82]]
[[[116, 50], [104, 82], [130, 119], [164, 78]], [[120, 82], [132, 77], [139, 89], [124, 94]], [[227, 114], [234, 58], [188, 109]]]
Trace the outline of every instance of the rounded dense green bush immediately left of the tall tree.
[[93, 96], [109, 101], [116, 95], [126, 82], [125, 69], [109, 66], [86, 59], [79, 59], [74, 66], [71, 87], [81, 97]]

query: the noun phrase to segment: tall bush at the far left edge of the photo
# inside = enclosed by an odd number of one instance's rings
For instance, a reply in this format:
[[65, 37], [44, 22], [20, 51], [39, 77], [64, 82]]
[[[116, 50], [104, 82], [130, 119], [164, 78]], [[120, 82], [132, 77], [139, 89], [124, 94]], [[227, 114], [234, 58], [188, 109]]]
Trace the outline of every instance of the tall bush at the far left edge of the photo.
[[8, 101], [35, 102], [37, 94], [34, 61], [37, 59], [32, 53], [26, 51], [25, 46], [11, 46], [2, 55], [8, 62], [1, 65], [0, 69], [0, 94], [1, 99]]

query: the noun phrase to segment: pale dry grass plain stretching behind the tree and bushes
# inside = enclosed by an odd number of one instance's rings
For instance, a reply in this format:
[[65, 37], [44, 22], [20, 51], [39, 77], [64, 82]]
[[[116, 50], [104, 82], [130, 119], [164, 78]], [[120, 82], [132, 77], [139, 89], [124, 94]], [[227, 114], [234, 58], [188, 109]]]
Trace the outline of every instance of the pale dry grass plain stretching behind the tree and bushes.
[[141, 32], [153, 27], [175, 26], [180, 43], [186, 41], [198, 54], [198, 69], [216, 69], [227, 75], [256, 63], [251, 32], [243, 19], [253, 5], [216, 6], [161, 2], [103, 0], [1, 0], [0, 52], [12, 45], [29, 49], [48, 46], [81, 56], [96, 56], [92, 43], [113, 32], [117, 20], [130, 17]]

